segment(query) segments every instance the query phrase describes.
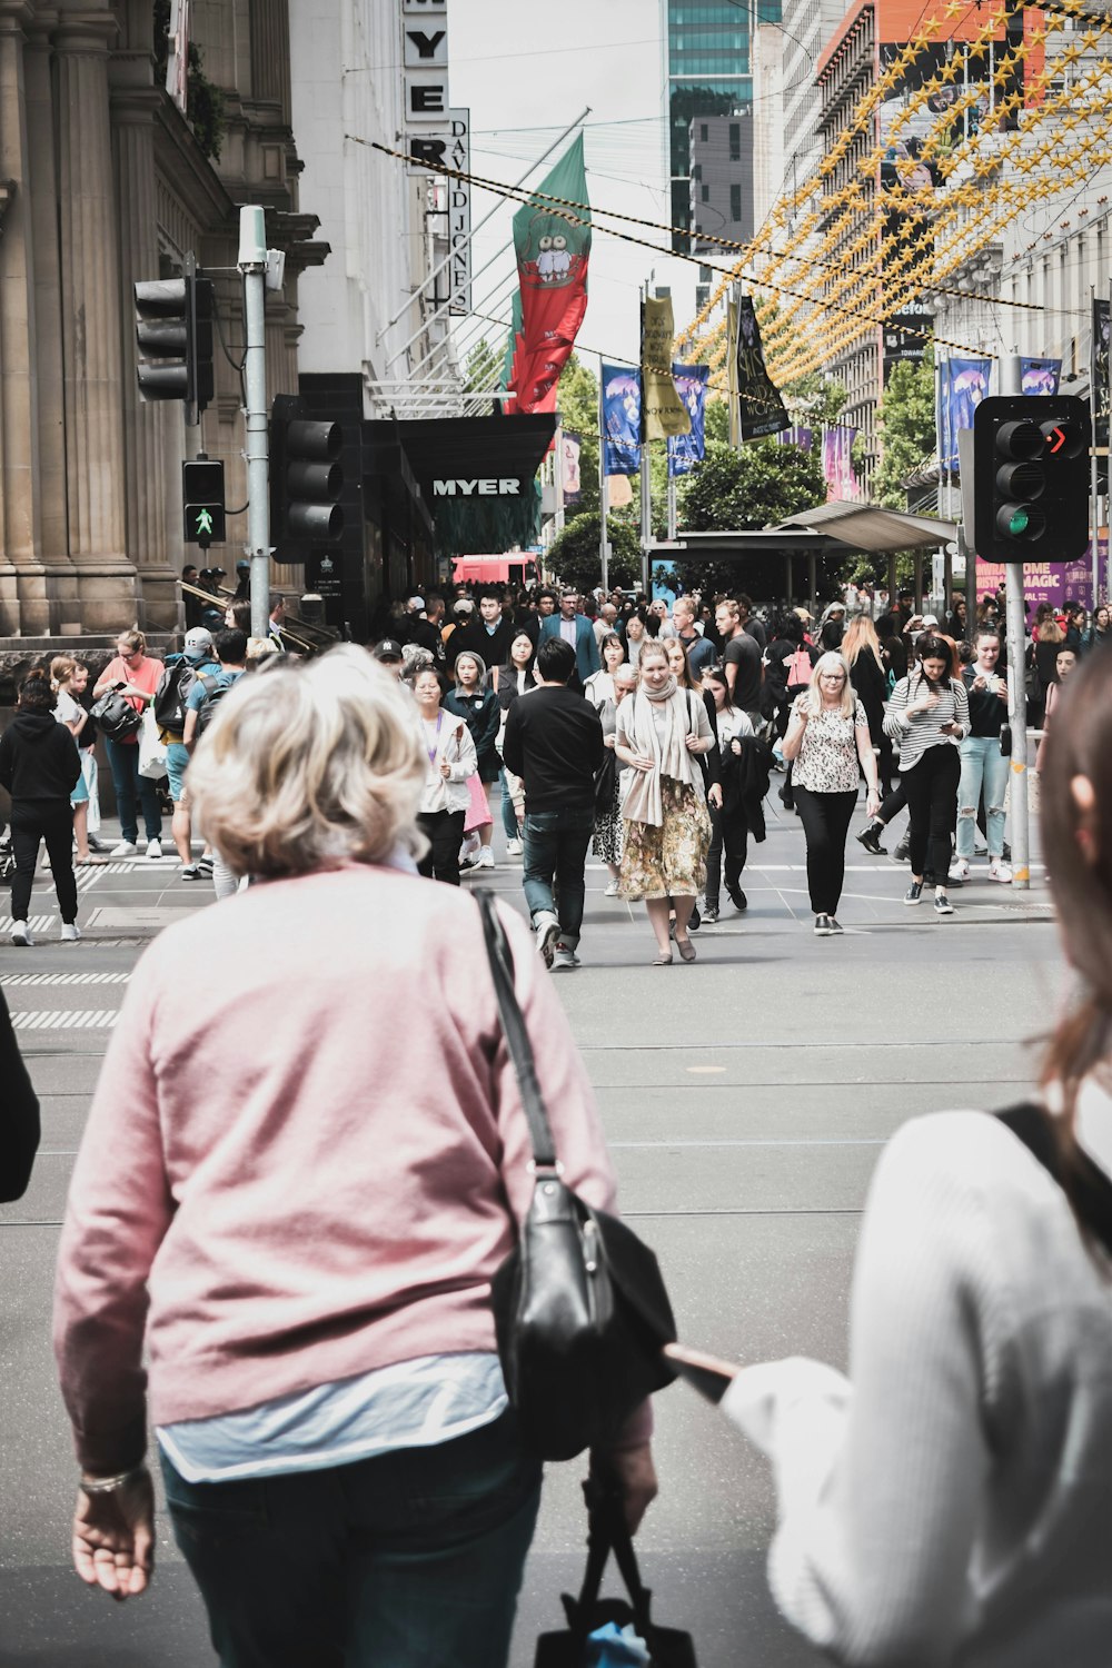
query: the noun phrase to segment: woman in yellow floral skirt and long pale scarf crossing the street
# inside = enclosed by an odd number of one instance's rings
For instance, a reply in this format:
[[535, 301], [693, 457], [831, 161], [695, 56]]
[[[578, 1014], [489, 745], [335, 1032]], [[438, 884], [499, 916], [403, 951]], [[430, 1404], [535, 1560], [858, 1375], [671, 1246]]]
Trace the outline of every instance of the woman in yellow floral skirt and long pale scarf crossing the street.
[[617, 711], [614, 751], [629, 767], [619, 896], [645, 901], [657, 939], [654, 967], [672, 962], [672, 909], [680, 959], [695, 961], [687, 922], [707, 881], [710, 846], [699, 754], [714, 746], [702, 696], [680, 689], [662, 642], [645, 642], [640, 687]]

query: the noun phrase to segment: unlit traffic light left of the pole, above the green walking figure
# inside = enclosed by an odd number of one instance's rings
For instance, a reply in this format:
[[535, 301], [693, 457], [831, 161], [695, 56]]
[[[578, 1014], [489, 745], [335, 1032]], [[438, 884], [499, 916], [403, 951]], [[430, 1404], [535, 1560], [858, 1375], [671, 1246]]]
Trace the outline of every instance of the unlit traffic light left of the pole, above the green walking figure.
[[212, 280], [197, 277], [193, 255], [180, 279], [135, 285], [138, 392], [145, 400], [185, 400], [193, 427], [215, 392], [212, 369]]

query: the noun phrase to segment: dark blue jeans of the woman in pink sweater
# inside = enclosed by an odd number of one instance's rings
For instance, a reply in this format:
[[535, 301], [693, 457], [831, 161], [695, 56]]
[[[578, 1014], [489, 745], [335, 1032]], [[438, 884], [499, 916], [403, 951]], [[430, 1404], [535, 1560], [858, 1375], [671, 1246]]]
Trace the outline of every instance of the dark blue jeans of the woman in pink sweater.
[[327, 1471], [162, 1475], [222, 1668], [503, 1668], [540, 1505], [512, 1413]]

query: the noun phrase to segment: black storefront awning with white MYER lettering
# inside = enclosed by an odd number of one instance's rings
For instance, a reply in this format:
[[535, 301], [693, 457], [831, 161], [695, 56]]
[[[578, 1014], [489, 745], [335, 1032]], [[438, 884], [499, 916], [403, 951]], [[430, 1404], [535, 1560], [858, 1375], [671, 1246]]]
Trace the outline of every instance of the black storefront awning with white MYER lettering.
[[522, 417], [425, 417], [363, 424], [368, 472], [408, 460], [443, 555], [510, 550], [540, 530], [535, 475], [552, 445], [553, 414]]

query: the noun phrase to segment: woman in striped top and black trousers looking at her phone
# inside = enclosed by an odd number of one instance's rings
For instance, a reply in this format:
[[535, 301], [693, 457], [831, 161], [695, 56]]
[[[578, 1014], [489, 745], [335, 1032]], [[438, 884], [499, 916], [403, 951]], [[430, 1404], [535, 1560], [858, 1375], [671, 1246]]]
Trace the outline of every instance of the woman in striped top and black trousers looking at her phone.
[[922, 902], [924, 874], [934, 871], [934, 907], [952, 916], [945, 881], [957, 822], [959, 744], [969, 736], [969, 697], [945, 637], [915, 644], [919, 666], [892, 691], [885, 734], [900, 744], [900, 781], [910, 812], [912, 884], [905, 904]]

